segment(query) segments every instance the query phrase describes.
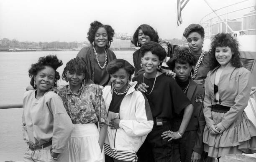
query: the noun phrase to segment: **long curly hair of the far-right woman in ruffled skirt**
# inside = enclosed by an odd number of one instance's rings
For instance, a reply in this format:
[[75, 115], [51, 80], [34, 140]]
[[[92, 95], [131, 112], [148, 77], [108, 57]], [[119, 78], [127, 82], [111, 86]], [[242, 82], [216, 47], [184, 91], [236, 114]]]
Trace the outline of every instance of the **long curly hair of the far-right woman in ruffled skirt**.
[[212, 42], [210, 44], [210, 70], [217, 67], [219, 62], [215, 58], [216, 47], [230, 47], [231, 52], [233, 52], [230, 63], [233, 67], [242, 67], [242, 62], [240, 58], [240, 52], [238, 50], [239, 44], [229, 33], [218, 33], [212, 37]]

